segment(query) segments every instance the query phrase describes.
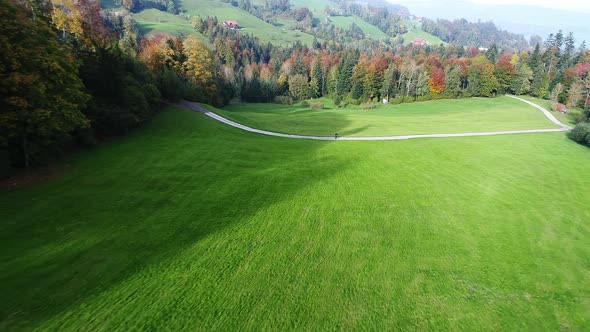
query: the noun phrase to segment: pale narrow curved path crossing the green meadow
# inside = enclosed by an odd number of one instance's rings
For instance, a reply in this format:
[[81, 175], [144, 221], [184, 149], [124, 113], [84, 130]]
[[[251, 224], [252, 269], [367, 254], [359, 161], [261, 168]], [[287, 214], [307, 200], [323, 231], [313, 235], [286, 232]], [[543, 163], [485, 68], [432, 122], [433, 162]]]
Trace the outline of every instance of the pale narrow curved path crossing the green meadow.
[[568, 131], [568, 130], [572, 129], [572, 127], [570, 127], [566, 124], [563, 124], [559, 120], [557, 120], [553, 116], [553, 114], [551, 114], [551, 112], [547, 111], [543, 107], [541, 107], [537, 104], [531, 103], [530, 101], [524, 100], [522, 98], [518, 98], [515, 96], [508, 96], [508, 97], [518, 99], [522, 102], [525, 102], [525, 103], [537, 108], [538, 110], [543, 112], [543, 114], [545, 114], [545, 116], [551, 122], [555, 123], [556, 125], [560, 126], [561, 128], [509, 130], [509, 131], [486, 131], [486, 132], [477, 132], [477, 133], [456, 133], [456, 134], [417, 134], [417, 135], [396, 135], [396, 136], [339, 136], [338, 138], [335, 138], [333, 136], [307, 136], [307, 135], [283, 134], [283, 133], [277, 133], [277, 132], [273, 132], [273, 131], [256, 129], [256, 128], [248, 127], [243, 124], [226, 119], [226, 118], [222, 117], [221, 115], [218, 115], [214, 112], [209, 111], [208, 109], [202, 107], [201, 105], [199, 105], [197, 103], [192, 103], [189, 101], [182, 101], [180, 103], [180, 105], [184, 106], [188, 109], [199, 111], [199, 112], [205, 114], [206, 116], [208, 116], [214, 120], [217, 120], [219, 122], [225, 123], [227, 125], [230, 125], [232, 127], [235, 127], [235, 128], [241, 129], [241, 130], [249, 131], [251, 133], [267, 135], [267, 136], [275, 136], [275, 137], [311, 139], [311, 140], [317, 140], [317, 141], [335, 141], [335, 140], [338, 140], [338, 141], [396, 141], [396, 140], [406, 140], [406, 139], [412, 139], [412, 138], [443, 138], [443, 137], [470, 137], [470, 136], [495, 136], [495, 135], [514, 135], [514, 134], [532, 134], [532, 133], [554, 133], [554, 132]]

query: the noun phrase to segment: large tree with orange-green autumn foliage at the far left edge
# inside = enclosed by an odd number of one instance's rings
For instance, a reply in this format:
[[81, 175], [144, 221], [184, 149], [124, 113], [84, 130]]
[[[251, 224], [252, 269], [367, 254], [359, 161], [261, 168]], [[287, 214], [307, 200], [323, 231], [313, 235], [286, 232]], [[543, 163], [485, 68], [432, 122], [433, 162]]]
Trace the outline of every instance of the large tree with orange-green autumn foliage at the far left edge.
[[44, 17], [0, 2], [0, 144], [29, 167], [45, 148], [89, 125], [80, 63]]

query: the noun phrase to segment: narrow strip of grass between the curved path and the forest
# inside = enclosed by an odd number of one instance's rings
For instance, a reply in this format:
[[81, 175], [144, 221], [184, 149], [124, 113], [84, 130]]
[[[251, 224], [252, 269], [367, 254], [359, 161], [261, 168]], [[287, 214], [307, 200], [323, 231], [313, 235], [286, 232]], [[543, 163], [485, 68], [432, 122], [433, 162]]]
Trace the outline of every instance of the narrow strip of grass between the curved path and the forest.
[[276, 104], [244, 104], [215, 110], [254, 128], [284, 133], [331, 136], [403, 135], [556, 128], [541, 112], [508, 98], [438, 100], [380, 105], [372, 111], [337, 109], [324, 99], [324, 110]]

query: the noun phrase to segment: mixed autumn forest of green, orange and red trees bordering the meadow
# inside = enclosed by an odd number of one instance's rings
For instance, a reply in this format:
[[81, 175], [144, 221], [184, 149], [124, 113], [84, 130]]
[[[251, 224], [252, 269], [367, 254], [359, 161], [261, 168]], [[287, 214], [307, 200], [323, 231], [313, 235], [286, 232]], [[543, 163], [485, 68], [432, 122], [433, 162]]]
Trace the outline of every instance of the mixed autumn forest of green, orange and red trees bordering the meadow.
[[[139, 5], [177, 10], [171, 1]], [[125, 2], [131, 10], [139, 5]], [[8, 0], [0, 6], [5, 169], [43, 164], [72, 147], [125, 134], [163, 102], [180, 99], [223, 106], [325, 96], [346, 105], [530, 94], [550, 99], [556, 109], [585, 110], [571, 136], [590, 144], [584, 123], [590, 117], [590, 51], [584, 42], [576, 47], [571, 33], [558, 31], [534, 47], [481, 48], [463, 31], [485, 27], [438, 21], [425, 29], [446, 46], [355, 38], [352, 29], [339, 31], [342, 38], [279, 47], [215, 17], [192, 17], [194, 34], [148, 37], [131, 16], [102, 10], [95, 0]], [[289, 10], [280, 1], [266, 8]], [[392, 36], [400, 32], [393, 12], [347, 10]], [[313, 21], [311, 13], [299, 15]]]

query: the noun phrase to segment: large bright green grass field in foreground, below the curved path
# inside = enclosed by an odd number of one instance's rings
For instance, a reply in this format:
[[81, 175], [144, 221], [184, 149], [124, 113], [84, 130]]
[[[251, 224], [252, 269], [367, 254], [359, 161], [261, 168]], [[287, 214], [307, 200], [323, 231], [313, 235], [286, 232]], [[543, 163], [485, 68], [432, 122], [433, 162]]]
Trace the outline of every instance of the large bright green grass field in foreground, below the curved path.
[[67, 164], [0, 192], [2, 330], [590, 324], [564, 133], [318, 142], [172, 108]]

